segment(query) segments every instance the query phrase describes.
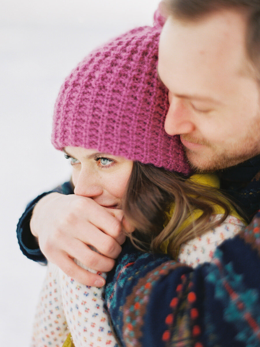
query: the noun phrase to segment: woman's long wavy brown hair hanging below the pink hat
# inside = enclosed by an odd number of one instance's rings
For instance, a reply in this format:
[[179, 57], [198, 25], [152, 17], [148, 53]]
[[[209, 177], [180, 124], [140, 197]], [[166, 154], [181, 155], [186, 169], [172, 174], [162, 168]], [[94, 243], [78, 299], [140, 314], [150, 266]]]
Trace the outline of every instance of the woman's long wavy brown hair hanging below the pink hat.
[[[165, 226], [165, 212], [170, 212], [173, 203], [173, 214]], [[168, 243], [167, 254], [176, 259], [182, 243], [204, 234], [227, 218], [230, 204], [218, 189], [194, 183], [175, 172], [134, 162], [122, 208], [125, 218], [135, 227], [132, 234], [127, 234], [135, 247], [163, 253], [162, 245]], [[223, 208], [221, 219], [211, 218], [214, 205]], [[195, 209], [202, 214], [194, 220], [192, 211]], [[188, 225], [187, 221], [190, 221]]]

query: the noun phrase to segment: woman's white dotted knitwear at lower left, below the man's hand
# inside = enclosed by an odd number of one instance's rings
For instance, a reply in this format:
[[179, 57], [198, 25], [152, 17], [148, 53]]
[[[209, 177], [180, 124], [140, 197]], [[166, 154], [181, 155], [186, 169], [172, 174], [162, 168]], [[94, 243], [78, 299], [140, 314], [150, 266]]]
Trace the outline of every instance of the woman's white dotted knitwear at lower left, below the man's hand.
[[[100, 274], [106, 278], [105, 273]], [[75, 347], [119, 347], [104, 307], [103, 292], [104, 288], [85, 286], [49, 262], [31, 347], [61, 347], [69, 333]]]

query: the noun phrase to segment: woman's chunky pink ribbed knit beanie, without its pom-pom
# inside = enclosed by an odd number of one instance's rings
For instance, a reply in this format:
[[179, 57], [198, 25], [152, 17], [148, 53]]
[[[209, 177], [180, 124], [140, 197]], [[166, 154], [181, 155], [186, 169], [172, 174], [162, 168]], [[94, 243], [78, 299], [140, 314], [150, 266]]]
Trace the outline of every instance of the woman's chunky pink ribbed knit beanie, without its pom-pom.
[[157, 77], [159, 25], [138, 27], [90, 53], [55, 103], [52, 144], [95, 149], [188, 174], [179, 136], [164, 130], [167, 90]]

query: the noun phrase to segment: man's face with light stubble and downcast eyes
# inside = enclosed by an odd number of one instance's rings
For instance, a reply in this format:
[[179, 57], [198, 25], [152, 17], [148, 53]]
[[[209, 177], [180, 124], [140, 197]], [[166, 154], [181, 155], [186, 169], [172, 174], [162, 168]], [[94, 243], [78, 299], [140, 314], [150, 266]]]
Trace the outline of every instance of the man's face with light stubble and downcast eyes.
[[259, 85], [245, 51], [246, 22], [224, 10], [197, 23], [168, 18], [158, 73], [169, 90], [165, 130], [191, 164], [217, 170], [260, 153]]

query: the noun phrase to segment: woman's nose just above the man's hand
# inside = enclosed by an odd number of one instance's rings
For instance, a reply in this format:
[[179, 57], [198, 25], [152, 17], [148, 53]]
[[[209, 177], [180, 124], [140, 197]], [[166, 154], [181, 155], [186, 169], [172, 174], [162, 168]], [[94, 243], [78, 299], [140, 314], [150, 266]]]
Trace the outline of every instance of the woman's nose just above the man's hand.
[[103, 188], [97, 175], [89, 170], [84, 170], [84, 168], [81, 169], [75, 182], [74, 194], [94, 198], [102, 193]]

